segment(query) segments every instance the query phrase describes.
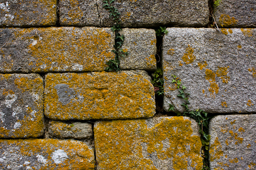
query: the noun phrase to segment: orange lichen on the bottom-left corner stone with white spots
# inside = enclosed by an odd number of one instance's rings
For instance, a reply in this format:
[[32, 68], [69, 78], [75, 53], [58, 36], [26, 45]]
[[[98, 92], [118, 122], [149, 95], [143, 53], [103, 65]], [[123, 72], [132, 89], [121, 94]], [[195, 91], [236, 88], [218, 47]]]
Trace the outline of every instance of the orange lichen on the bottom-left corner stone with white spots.
[[[10, 152], [22, 156], [42, 155], [47, 163], [35, 161], [36, 167], [32, 169], [94, 169], [94, 151], [88, 145], [75, 140], [57, 139], [27, 139], [27, 140], [0, 140], [0, 144], [10, 147]], [[13, 149], [15, 147], [15, 149]], [[19, 149], [17, 149], [17, 147]], [[8, 148], [8, 147], [7, 147]], [[12, 150], [12, 151], [11, 151]], [[61, 150], [66, 158], [55, 163], [52, 155]]]

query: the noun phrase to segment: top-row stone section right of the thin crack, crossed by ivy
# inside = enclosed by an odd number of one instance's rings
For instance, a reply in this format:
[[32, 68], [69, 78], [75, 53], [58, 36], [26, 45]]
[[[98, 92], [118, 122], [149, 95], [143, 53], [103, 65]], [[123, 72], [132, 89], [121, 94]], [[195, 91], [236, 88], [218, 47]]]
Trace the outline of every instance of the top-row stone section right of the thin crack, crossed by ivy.
[[[101, 26], [112, 27], [112, 19], [103, 2], [96, 0], [101, 18]], [[203, 27], [209, 23], [207, 0], [118, 0], [114, 7], [120, 13], [123, 27], [159, 27], [159, 25], [179, 27]]]

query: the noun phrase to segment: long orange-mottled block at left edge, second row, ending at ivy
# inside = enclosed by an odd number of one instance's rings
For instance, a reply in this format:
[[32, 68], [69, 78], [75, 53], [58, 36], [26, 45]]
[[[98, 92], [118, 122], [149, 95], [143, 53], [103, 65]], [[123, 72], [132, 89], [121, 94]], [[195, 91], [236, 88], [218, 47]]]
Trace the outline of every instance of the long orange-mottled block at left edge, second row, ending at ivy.
[[114, 59], [109, 28], [0, 29], [0, 72], [101, 71]]

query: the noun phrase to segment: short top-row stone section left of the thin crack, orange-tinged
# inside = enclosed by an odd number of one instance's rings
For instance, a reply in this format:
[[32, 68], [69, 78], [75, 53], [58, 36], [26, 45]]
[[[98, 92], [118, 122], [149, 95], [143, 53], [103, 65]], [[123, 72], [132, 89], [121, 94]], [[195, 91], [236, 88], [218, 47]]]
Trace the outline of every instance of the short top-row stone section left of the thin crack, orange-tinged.
[[62, 26], [100, 27], [100, 17], [95, 0], [60, 0], [59, 18]]

